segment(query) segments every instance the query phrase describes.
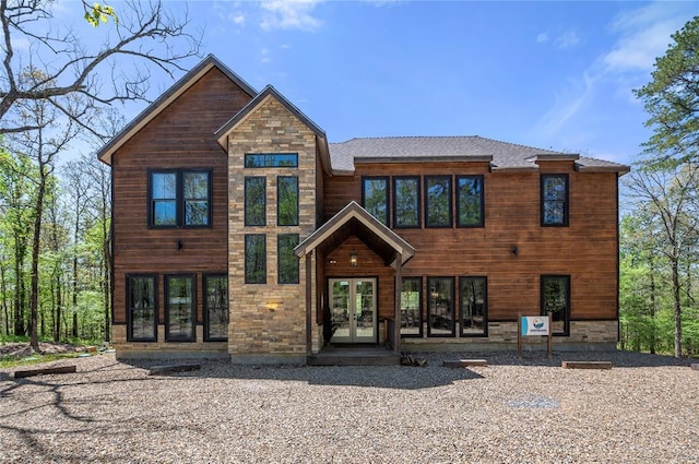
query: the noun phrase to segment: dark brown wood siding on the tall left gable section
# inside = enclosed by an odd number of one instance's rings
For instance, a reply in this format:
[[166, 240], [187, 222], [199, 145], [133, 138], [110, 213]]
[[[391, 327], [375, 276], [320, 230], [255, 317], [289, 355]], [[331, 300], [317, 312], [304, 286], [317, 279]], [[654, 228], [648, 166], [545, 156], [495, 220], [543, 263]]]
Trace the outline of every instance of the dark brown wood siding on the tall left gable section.
[[[163, 323], [163, 274], [197, 274], [197, 320], [202, 320], [202, 278], [227, 274], [227, 156], [213, 133], [249, 100], [217, 69], [179, 96], [112, 157], [115, 323], [126, 322], [128, 274], [158, 274], [158, 321]], [[212, 171], [212, 227], [147, 227], [149, 169]], [[177, 241], [181, 249], [177, 250]]]

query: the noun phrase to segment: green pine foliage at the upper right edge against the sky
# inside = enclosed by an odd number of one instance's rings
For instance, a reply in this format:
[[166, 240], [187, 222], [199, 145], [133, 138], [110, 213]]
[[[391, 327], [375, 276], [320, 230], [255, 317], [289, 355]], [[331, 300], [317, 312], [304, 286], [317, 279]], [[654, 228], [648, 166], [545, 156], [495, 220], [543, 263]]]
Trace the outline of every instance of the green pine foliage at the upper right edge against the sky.
[[636, 91], [650, 115], [653, 135], [644, 146], [654, 162], [696, 159], [699, 152], [699, 16], [672, 38], [652, 81]]

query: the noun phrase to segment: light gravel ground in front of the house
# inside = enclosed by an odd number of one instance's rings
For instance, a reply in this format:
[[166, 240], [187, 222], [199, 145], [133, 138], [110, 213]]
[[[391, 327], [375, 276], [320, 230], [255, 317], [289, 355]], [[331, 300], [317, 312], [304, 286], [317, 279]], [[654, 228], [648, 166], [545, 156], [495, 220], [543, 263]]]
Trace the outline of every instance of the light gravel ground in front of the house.
[[[699, 462], [696, 360], [417, 356], [427, 367], [204, 361], [149, 376], [163, 361], [102, 354], [51, 362], [76, 373], [14, 379], [21, 368], [2, 369], [0, 462]], [[489, 366], [441, 366], [461, 357]], [[561, 369], [561, 360], [615, 367]]]

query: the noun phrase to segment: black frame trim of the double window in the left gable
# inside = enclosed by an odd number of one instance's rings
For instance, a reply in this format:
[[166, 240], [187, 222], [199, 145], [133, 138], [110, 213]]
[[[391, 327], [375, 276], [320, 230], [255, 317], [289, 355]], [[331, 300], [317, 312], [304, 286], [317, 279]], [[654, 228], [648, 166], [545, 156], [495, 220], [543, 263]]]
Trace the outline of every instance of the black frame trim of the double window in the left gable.
[[[185, 213], [185, 174], [206, 174], [206, 224], [205, 225], [186, 225]], [[153, 200], [153, 175], [156, 174], [174, 174], [175, 175], [175, 224], [174, 225], [157, 225], [154, 224], [154, 200]], [[147, 214], [146, 214], [146, 227], [149, 229], [204, 229], [213, 228], [213, 169], [211, 168], [174, 168], [174, 169], [147, 169]]]

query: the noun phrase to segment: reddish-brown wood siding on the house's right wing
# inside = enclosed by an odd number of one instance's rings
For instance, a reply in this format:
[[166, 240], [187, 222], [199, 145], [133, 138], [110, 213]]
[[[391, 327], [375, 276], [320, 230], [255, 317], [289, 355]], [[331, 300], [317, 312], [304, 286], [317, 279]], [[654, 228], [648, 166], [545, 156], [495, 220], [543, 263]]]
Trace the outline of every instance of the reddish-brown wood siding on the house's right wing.
[[[569, 227], [541, 226], [540, 175], [548, 172], [569, 175]], [[542, 275], [570, 275], [571, 320], [616, 319], [616, 172], [578, 172], [572, 162], [541, 163], [538, 172], [490, 172], [486, 163], [358, 164], [352, 177], [325, 177], [324, 218], [352, 200], [360, 203], [362, 176], [474, 174], [485, 179], [485, 227], [394, 229], [416, 249], [403, 276], [487, 276], [489, 320], [513, 321], [519, 312], [538, 313]], [[337, 261], [334, 269], [325, 264], [325, 277], [378, 275], [379, 314], [392, 317], [393, 270], [377, 257], [352, 269], [354, 250], [370, 253], [347, 240], [325, 257]]]

